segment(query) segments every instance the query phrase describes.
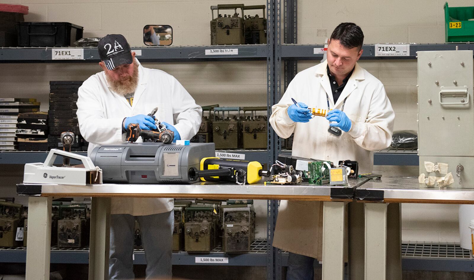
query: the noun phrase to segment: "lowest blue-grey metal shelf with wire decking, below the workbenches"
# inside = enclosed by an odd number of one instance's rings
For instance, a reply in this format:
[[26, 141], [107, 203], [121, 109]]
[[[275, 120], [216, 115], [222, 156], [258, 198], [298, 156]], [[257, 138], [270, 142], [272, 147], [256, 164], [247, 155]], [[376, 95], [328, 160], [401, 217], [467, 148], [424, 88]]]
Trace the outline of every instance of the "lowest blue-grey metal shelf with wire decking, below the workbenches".
[[[459, 246], [459, 243], [435, 242], [402, 242], [403, 270], [419, 271], [464, 271], [474, 272], [474, 259], [471, 251]], [[0, 259], [4, 263], [25, 263], [26, 247], [0, 248]], [[145, 251], [134, 250], [134, 264], [146, 264]], [[258, 238], [246, 254], [225, 254], [218, 246], [209, 254], [190, 254], [187, 252], [173, 253], [173, 265], [230, 265], [230, 266], [265, 266], [267, 240]], [[196, 264], [196, 257], [229, 258], [226, 264]], [[89, 248], [57, 248], [51, 247], [51, 263], [89, 263]], [[282, 253], [282, 266], [288, 265], [288, 253]]]

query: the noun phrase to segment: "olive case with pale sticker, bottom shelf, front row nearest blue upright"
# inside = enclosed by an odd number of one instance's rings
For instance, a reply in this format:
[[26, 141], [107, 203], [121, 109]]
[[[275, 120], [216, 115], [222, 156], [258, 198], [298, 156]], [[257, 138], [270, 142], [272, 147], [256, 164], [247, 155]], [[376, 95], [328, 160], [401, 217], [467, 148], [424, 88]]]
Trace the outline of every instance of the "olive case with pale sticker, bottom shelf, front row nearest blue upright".
[[245, 253], [255, 239], [255, 211], [252, 200], [227, 201], [221, 206], [222, 251]]

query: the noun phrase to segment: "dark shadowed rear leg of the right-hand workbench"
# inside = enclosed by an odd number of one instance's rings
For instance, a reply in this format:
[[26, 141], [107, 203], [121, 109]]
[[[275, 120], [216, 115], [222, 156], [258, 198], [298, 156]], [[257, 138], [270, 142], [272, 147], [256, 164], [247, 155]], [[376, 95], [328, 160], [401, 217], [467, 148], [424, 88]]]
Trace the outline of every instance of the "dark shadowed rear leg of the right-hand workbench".
[[390, 203], [387, 209], [387, 280], [401, 280], [400, 203]]

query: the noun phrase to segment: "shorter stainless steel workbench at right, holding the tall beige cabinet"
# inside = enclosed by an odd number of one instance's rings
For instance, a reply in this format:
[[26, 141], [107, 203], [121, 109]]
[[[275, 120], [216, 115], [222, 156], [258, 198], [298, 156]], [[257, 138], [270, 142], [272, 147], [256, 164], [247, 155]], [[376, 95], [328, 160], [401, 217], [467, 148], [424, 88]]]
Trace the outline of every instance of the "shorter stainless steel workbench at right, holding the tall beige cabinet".
[[394, 176], [357, 187], [355, 199], [366, 202], [365, 279], [401, 279], [400, 203], [474, 204], [474, 188], [452, 186], [427, 187], [417, 177]]

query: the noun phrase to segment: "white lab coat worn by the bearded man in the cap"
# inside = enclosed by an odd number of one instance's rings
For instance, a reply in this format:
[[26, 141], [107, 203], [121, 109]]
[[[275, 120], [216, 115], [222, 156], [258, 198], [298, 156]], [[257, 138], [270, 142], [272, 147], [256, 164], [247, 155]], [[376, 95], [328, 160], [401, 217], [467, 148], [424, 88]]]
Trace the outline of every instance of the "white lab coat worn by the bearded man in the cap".
[[[148, 69], [141, 64], [132, 106], [124, 96], [109, 89], [104, 71], [85, 80], [78, 95], [77, 118], [82, 137], [89, 141], [88, 156], [96, 146], [120, 144], [125, 140], [122, 132], [125, 117], [149, 114], [155, 107], [158, 107], [155, 117], [174, 124], [181, 139], [191, 139], [201, 125], [201, 107], [178, 80], [164, 71]], [[113, 198], [111, 205], [112, 214], [134, 216], [172, 209], [171, 198]]]

